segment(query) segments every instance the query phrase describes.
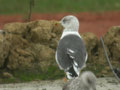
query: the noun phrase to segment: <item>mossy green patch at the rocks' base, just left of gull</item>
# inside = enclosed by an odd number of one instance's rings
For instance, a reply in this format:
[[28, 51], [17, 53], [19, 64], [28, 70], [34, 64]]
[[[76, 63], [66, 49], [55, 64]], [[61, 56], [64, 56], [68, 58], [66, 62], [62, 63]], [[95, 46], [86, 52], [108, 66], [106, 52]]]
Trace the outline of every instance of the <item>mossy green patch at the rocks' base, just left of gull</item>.
[[23, 71], [15, 71], [13, 73], [14, 77], [16, 77], [17, 81], [27, 82], [33, 80], [56, 80], [64, 77], [64, 72], [59, 70], [58, 67], [50, 66], [48, 67], [48, 71], [46, 72], [23, 72]]

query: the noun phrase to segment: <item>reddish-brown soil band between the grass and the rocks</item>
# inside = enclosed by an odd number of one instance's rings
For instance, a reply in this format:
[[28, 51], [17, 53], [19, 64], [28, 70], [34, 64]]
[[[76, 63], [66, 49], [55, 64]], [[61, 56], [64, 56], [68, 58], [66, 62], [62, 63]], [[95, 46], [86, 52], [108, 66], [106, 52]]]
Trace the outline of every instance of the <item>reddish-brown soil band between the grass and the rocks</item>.
[[[60, 20], [65, 15], [72, 13], [59, 13], [59, 14], [33, 14], [33, 20]], [[106, 13], [77, 13], [72, 14], [78, 17], [80, 21], [80, 33], [93, 32], [98, 37], [104, 35], [107, 30], [112, 26], [120, 25], [120, 12], [106, 12]], [[0, 29], [3, 25], [10, 22], [24, 22], [22, 15], [0, 15]]]

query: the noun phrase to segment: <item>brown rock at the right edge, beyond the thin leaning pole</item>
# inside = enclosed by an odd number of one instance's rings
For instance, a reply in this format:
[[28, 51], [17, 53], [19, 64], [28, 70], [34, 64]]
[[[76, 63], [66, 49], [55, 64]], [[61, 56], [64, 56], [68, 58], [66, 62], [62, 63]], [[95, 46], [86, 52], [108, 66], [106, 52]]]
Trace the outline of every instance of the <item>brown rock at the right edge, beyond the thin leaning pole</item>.
[[110, 58], [120, 64], [120, 26], [112, 27], [104, 36]]

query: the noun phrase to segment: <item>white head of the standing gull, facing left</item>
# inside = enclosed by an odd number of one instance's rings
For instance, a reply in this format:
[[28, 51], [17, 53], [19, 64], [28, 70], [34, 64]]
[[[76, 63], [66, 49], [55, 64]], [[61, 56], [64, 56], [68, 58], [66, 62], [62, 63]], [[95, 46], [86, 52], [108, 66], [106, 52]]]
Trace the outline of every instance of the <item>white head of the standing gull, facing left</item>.
[[62, 26], [65, 28], [67, 31], [78, 31], [79, 30], [79, 21], [77, 17], [69, 15], [65, 16], [61, 20]]

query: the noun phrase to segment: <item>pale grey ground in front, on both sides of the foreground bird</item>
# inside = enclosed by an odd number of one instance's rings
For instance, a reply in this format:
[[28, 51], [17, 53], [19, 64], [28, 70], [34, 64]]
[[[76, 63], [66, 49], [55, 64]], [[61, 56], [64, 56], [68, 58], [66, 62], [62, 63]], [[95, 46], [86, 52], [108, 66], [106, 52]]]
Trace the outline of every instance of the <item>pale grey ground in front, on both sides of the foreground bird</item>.
[[[1, 84], [0, 90], [62, 90], [63, 80], [35, 81], [30, 83]], [[97, 90], [120, 90], [120, 83], [115, 78], [97, 79]]]

